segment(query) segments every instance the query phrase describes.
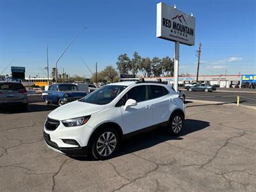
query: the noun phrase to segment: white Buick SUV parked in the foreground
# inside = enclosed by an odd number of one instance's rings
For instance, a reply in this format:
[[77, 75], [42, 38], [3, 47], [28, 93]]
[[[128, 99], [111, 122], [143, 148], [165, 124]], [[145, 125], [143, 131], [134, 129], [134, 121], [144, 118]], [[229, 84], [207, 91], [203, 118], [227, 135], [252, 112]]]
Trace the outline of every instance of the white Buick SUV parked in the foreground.
[[141, 129], [164, 125], [179, 134], [184, 117], [179, 93], [168, 84], [112, 83], [52, 111], [45, 120], [44, 140], [68, 156], [108, 159], [125, 136]]

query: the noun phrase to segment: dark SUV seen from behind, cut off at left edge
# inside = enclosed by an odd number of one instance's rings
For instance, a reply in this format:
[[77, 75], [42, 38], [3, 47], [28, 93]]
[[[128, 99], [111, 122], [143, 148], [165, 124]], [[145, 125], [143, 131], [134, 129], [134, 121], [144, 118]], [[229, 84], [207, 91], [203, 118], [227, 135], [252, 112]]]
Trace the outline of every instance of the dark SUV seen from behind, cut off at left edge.
[[0, 109], [8, 106], [28, 108], [28, 93], [21, 83], [0, 81]]

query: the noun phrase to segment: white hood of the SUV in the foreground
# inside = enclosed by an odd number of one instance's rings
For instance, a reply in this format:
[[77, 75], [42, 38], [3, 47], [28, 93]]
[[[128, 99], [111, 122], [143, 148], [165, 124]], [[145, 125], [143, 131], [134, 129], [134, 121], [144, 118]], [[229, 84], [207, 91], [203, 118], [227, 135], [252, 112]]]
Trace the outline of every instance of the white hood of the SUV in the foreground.
[[49, 113], [48, 116], [49, 118], [56, 120], [65, 120], [69, 118], [92, 115], [93, 113], [102, 111], [104, 108], [104, 105], [90, 104], [76, 100], [54, 109], [51, 113]]

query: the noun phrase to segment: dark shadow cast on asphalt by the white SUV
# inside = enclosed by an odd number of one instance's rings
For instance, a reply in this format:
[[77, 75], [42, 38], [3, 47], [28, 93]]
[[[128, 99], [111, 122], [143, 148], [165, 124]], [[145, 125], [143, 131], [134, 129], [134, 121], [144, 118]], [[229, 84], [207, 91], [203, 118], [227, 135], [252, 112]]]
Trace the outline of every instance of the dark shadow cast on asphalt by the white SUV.
[[[139, 150], [144, 150], [146, 148], [154, 147], [159, 143], [169, 140], [184, 140], [183, 136], [191, 134], [192, 132], [200, 131], [209, 127], [209, 122], [201, 120], [186, 119], [184, 121], [184, 129], [177, 136], [172, 136], [166, 127], [157, 127], [151, 131], [145, 131], [140, 134], [136, 134], [131, 138], [125, 139], [122, 142], [117, 154], [113, 157], [124, 156], [126, 154], [131, 154]], [[77, 161], [95, 161], [92, 157], [71, 157]]]

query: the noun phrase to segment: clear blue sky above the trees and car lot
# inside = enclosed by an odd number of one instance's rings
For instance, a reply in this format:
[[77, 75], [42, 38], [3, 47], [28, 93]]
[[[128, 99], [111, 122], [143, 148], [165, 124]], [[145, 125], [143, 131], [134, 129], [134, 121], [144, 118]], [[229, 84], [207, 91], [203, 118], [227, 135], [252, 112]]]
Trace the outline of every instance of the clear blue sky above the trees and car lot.
[[[94, 70], [116, 67], [118, 55], [173, 58], [174, 43], [156, 38], [156, 4], [160, 1], [4, 1], [0, 0], [0, 74], [26, 67], [26, 76], [45, 76], [49, 66], [82, 31], [58, 67], [70, 75], [90, 76], [79, 57]], [[180, 45], [180, 72], [195, 74], [195, 50], [202, 42], [200, 74], [256, 74], [256, 1], [162, 1], [196, 19], [195, 46]], [[60, 70], [59, 68], [59, 70]], [[10, 67], [3, 74], [10, 74]]]

